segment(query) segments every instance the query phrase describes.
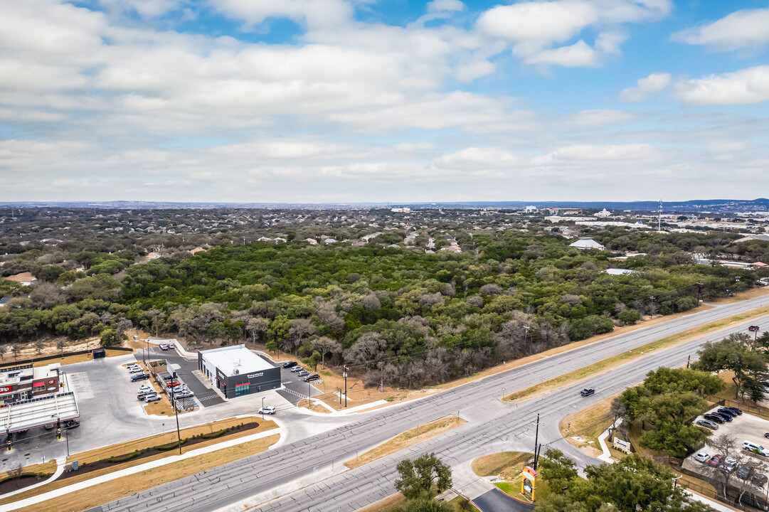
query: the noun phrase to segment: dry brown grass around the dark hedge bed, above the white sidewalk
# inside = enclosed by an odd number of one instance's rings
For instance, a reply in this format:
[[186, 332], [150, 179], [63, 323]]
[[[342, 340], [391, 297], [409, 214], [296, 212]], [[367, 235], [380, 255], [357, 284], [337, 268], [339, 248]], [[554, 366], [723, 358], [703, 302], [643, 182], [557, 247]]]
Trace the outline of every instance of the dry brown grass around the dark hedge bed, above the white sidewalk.
[[[181, 437], [183, 439], [185, 437], [191, 437], [193, 435], [198, 435], [198, 434], [209, 434], [211, 432], [220, 431], [220, 430], [222, 430], [224, 428], [231, 427], [232, 425], [241, 424], [241, 423], [244, 423], [244, 424], [245, 423], [251, 423], [252, 421], [258, 421], [259, 427], [255, 428], [255, 429], [248, 430], [248, 431], [240, 431], [240, 432], [235, 432], [233, 434], [225, 434], [225, 435], [223, 435], [221, 437], [217, 437], [215, 439], [210, 439], [208, 441], [203, 441], [201, 443], [197, 443], [197, 444], [191, 445], [189, 447], [185, 447], [185, 445], [182, 444], [181, 445], [181, 451], [182, 451], [182, 453], [185, 453], [185, 452], [187, 452], [189, 450], [195, 450], [197, 448], [202, 448], [202, 447], [210, 446], [211, 444], [218, 444], [218, 443], [221, 443], [222, 441], [228, 441], [228, 440], [231, 440], [231, 439], [238, 439], [238, 437], [245, 437], [245, 436], [248, 436], [248, 435], [251, 435], [251, 434], [258, 434], [259, 432], [269, 431], [269, 430], [272, 430], [272, 429], [275, 429], [275, 428], [278, 427], [278, 425], [275, 424], [274, 421], [265, 420], [265, 421], [262, 422], [261, 418], [258, 418], [258, 417], [247, 417], [247, 418], [237, 418], [237, 419], [236, 418], [230, 418], [228, 420], [216, 421], [216, 422], [214, 422], [212, 424], [208, 424], [208, 425], [201, 425], [199, 427], [185, 428], [184, 430], [181, 431]], [[276, 436], [278, 436], [278, 434], [275, 434], [275, 436], [269, 436], [267, 438], [276, 437]], [[160, 434], [160, 435], [157, 435], [157, 436], [143, 437], [143, 438], [138, 439], [136, 441], [128, 441], [126, 443], [115, 444], [115, 445], [112, 445], [110, 447], [98, 448], [96, 450], [89, 450], [89, 451], [86, 451], [86, 452], [82, 452], [80, 454], [73, 454], [71, 457], [68, 458], [68, 462], [71, 462], [72, 460], [78, 460], [78, 462], [81, 465], [82, 464], [89, 464], [89, 463], [95, 462], [97, 460], [104, 460], [105, 458], [108, 458], [108, 457], [114, 457], [114, 456], [117, 456], [117, 455], [128, 454], [128, 453], [131, 453], [134, 450], [143, 450], [144, 448], [155, 447], [155, 446], [159, 446], [161, 444], [173, 443], [174, 441], [177, 441], [176, 431], [169, 431], [169, 432], [166, 432], [165, 434]], [[261, 440], [257, 440], [257, 441], [261, 441]], [[255, 443], [257, 441], [251, 441], [251, 442]], [[248, 443], [246, 443], [246, 444], [248, 444]], [[222, 450], [216, 450], [215, 452], [213, 452], [213, 454], [221, 453], [222, 457], [226, 457], [227, 456], [226, 454], [228, 453], [227, 450], [229, 450], [229, 448], [223, 448]], [[258, 453], [258, 452], [254, 452], [254, 453]], [[112, 473], [115, 470], [125, 469], [126, 467], [138, 466], [139, 464], [145, 464], [146, 462], [151, 462], [152, 460], [158, 460], [158, 459], [161, 459], [161, 458], [164, 458], [164, 457], [168, 457], [169, 455], [176, 455], [176, 454], [178, 454], [178, 450], [170, 450], [168, 452], [164, 452], [164, 453], [161, 453], [161, 454], [152, 455], [151, 457], [142, 457], [142, 458], [138, 458], [138, 459], [128, 460], [128, 461], [120, 463], [120, 464], [113, 464], [110, 467], [104, 467], [104, 468], [99, 469], [99, 470], [94, 470], [94, 471], [90, 471], [88, 473], [78, 474], [78, 475], [73, 476], [73, 477], [68, 477], [68, 478], [64, 478], [64, 479], [55, 480], [51, 484], [48, 484], [48, 485], [45, 485], [45, 486], [42, 486], [42, 487], [38, 487], [37, 489], [29, 490], [28, 492], [25, 492], [25, 493], [22, 493], [22, 494], [17, 494], [16, 496], [8, 498], [6, 500], [0, 499], [0, 504], [7, 504], [7, 503], [10, 503], [12, 501], [23, 500], [24, 498], [36, 496], [38, 494], [42, 494], [42, 493], [48, 492], [49, 490], [59, 489], [61, 487], [66, 487], [68, 485], [75, 484], [75, 483], [81, 482], [83, 480], [89, 480], [89, 479], [91, 479], [93, 477], [98, 477], [98, 476], [100, 476], [102, 474]], [[244, 455], [243, 457], [247, 457], [247, 456], [248, 455]], [[198, 458], [199, 457], [194, 457], [193, 459], [188, 459], [188, 460], [197, 460]], [[242, 458], [242, 457], [240, 457], [240, 458]], [[238, 458], [231, 458], [229, 460], [238, 460]], [[225, 464], [225, 462], [227, 462], [229, 460], [224, 460], [223, 462], [221, 462], [221, 464]], [[184, 461], [181, 461], [181, 462], [184, 462]], [[168, 467], [168, 466], [164, 466], [164, 467]], [[53, 473], [53, 470], [47, 471], [47, 472], [48, 473]], [[192, 473], [195, 473], [195, 472], [196, 471], [193, 471]], [[183, 475], [183, 476], [186, 476], [186, 475]], [[179, 478], [181, 478], [181, 477], [179, 477]], [[113, 480], [113, 481], [118, 481], [118, 480]], [[102, 503], [105, 503], [105, 501], [102, 501]]]

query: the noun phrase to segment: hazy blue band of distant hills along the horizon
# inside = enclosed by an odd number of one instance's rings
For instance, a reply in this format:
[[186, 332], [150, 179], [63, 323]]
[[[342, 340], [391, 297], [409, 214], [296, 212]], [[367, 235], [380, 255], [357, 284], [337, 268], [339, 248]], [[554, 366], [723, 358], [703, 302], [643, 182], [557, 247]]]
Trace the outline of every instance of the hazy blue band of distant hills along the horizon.
[[[526, 206], [538, 208], [606, 208], [611, 211], [657, 211], [658, 201], [464, 201], [434, 203], [223, 203], [223, 202], [168, 202], [168, 201], [17, 201], [0, 202], [0, 208], [108, 208], [121, 210], [174, 209], [174, 208], [301, 208], [301, 209], [359, 209], [389, 208], [390, 206], [421, 209], [510, 208]], [[664, 201], [663, 211], [711, 211], [737, 213], [769, 211], [769, 199], [697, 199], [694, 201]]]

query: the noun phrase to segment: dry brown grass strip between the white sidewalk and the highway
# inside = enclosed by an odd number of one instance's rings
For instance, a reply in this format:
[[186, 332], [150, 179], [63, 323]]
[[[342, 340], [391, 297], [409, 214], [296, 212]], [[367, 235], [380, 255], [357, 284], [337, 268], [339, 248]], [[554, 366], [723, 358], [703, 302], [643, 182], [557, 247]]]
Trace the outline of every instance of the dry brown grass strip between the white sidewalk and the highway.
[[[141, 473], [118, 478], [105, 484], [98, 484], [87, 489], [65, 494], [62, 497], [56, 497], [43, 503], [24, 507], [16, 512], [62, 512], [62, 510], [76, 512], [87, 510], [88, 508], [118, 500], [124, 496], [136, 494], [150, 487], [156, 487], [179, 478], [188, 477], [200, 471], [210, 470], [213, 467], [227, 464], [233, 460], [240, 460], [249, 455], [261, 453], [277, 443], [279, 438], [280, 434], [275, 434], [256, 441], [238, 444], [238, 446], [216, 450], [199, 457], [179, 460], [163, 467], [142, 471]], [[45, 491], [39, 490], [39, 492]], [[14, 496], [13, 498], [14, 500], [22, 499], [21, 496]]]

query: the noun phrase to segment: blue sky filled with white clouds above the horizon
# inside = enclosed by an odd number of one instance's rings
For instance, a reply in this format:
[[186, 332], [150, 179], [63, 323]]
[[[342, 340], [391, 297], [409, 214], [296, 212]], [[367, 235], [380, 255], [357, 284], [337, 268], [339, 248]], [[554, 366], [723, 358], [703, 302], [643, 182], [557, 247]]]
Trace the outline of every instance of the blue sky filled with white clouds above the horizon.
[[767, 0], [0, 0], [0, 200], [767, 197], [767, 46]]

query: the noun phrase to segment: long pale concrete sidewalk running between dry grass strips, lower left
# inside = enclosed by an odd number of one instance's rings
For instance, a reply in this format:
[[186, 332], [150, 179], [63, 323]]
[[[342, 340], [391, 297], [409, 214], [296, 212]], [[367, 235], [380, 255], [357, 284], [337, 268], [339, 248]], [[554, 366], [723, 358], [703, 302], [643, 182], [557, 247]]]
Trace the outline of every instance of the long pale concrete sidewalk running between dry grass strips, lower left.
[[[155, 467], [161, 467], [165, 466], [166, 464], [172, 464], [174, 462], [177, 462], [178, 460], [185, 460], [191, 457], [198, 457], [198, 455], [203, 454], [209, 454], [216, 450], [221, 450], [222, 448], [228, 448], [237, 446], [241, 443], [248, 443], [249, 441], [256, 441], [257, 439], [261, 439], [262, 437], [268, 437], [273, 434], [281, 434], [281, 437], [283, 437], [282, 428], [273, 428], [270, 431], [264, 431], [259, 432], [258, 434], [251, 434], [250, 436], [245, 437], [238, 437], [237, 439], [231, 439], [229, 441], [224, 441], [223, 443], [218, 444], [211, 444], [211, 446], [198, 448], [196, 450], [190, 450], [186, 454], [181, 455], [171, 455], [168, 457], [164, 457], [162, 459], [158, 460], [151, 460], [150, 462], [147, 462], [145, 464], [139, 464], [138, 466], [133, 467], [126, 467], [122, 470], [113, 471], [112, 473], [103, 474], [98, 477], [89, 478], [88, 480], [82, 480], [81, 482], [77, 482], [72, 485], [68, 485], [66, 487], [60, 487], [55, 490], [49, 490], [47, 493], [44, 494], [38, 494], [37, 496], [32, 496], [25, 498], [24, 500], [15, 501], [13, 503], [0, 505], [0, 512], [12, 512], [13, 510], [18, 510], [19, 508], [23, 507], [29, 507], [30, 505], [35, 505], [38, 503], [41, 503], [45, 500], [50, 500], [55, 497], [64, 496], [65, 494], [73, 493], [77, 490], [86, 489], [88, 487], [92, 487], [94, 485], [98, 484], [104, 484], [105, 482], [108, 482], [110, 480], [115, 480], [117, 478], [127, 477], [131, 474], [137, 474], [141, 473], [141, 471], [146, 471], [150, 469], [155, 469]], [[62, 471], [64, 470], [63, 465], [61, 466]], [[58, 472], [58, 468], [57, 468]], [[45, 482], [46, 484], [48, 481]], [[26, 487], [25, 489], [22, 489], [20, 491], [29, 490], [32, 487]], [[10, 494], [7, 494], [2, 497], [10, 496]]]

